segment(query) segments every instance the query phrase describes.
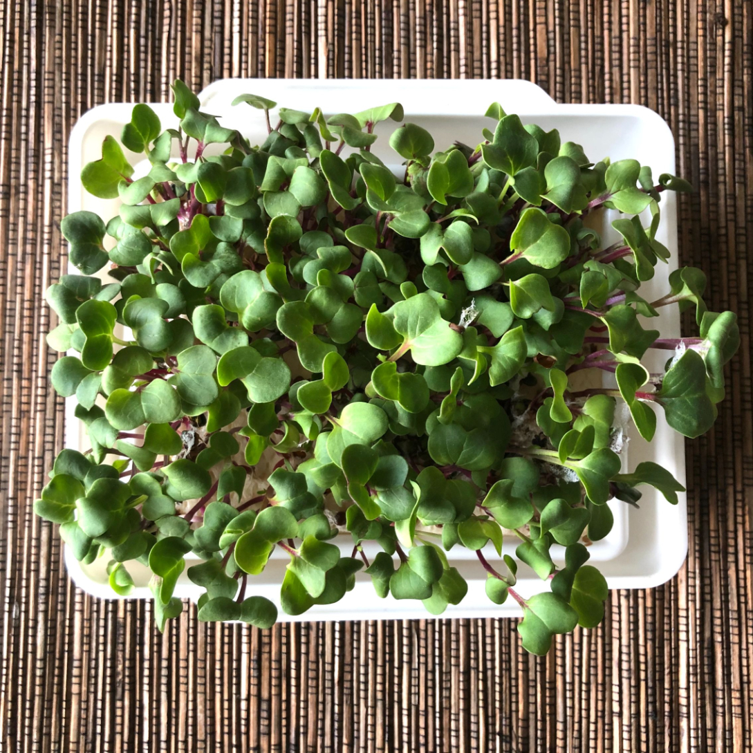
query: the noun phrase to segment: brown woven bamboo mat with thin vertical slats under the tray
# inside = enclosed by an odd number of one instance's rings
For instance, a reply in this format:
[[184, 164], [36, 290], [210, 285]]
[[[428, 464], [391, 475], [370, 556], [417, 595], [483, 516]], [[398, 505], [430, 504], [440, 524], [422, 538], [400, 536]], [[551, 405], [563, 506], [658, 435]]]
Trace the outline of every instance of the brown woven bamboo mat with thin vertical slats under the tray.
[[[4, 753], [753, 750], [750, 2], [5, 0], [0, 29]], [[698, 187], [681, 261], [743, 341], [715, 430], [687, 448], [680, 574], [613, 592], [599, 629], [543, 659], [515, 620], [259, 633], [187, 608], [160, 636], [150, 605], [72, 587], [31, 508], [62, 446], [42, 294], [64, 263], [66, 142], [88, 108], [166, 99], [176, 75], [530, 78], [662, 114]]]

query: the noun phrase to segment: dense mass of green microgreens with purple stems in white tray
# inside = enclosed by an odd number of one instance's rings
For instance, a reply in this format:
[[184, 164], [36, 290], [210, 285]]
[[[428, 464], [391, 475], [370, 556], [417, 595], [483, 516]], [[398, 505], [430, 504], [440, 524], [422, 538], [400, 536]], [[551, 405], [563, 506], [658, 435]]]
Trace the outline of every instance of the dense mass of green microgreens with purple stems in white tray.
[[[266, 115], [252, 147], [174, 91], [178, 130], [136, 105], [128, 157], [108, 137], [82, 172], [119, 214], [61, 223], [81, 275], [47, 291], [48, 341], [77, 355], [52, 383], [92, 449], [59, 454], [38, 514], [78, 559], [107, 559], [116, 593], [133, 588], [129, 562], [147, 565], [160, 629], [191, 552], [201, 620], [270, 626], [253, 576], [276, 547], [288, 614], [341, 599], [361, 569], [378, 596], [440, 614], [467, 591], [445, 551], [468, 547], [489, 599], [523, 607], [529, 651], [599, 623], [607, 587], [585, 562], [611, 529], [605, 503], [683, 490], [651, 462], [620, 472], [623, 413], [647, 440], [657, 411], [707, 431], [739, 339], [732, 313], [706, 309], [700, 270], [640, 295], [668, 257], [660, 194], [687, 184], [593, 163], [500, 105], [476, 148], [435, 151], [422, 127], [398, 127], [396, 177], [371, 145], [401, 105], [279, 108], [272, 128], [276, 103], [239, 96]], [[606, 248], [587, 224], [603, 208], [619, 213]], [[659, 338], [669, 304], [694, 309], [697, 337]], [[641, 364], [650, 348], [666, 350], [663, 373]], [[332, 543], [346, 535], [352, 556]], [[517, 593], [517, 561], [550, 590]]]

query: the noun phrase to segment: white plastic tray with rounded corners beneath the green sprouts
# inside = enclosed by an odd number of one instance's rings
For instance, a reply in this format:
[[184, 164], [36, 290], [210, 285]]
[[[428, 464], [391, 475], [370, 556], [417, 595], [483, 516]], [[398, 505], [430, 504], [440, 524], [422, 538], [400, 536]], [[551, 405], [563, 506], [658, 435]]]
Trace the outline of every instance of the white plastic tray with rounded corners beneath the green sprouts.
[[[252, 111], [245, 105], [233, 108], [230, 102], [239, 93], [255, 93], [267, 96], [280, 105], [312, 111], [321, 106], [325, 114], [347, 111], [355, 112], [386, 102], [401, 102], [405, 119], [419, 123], [431, 131], [437, 149], [446, 148], [455, 140], [476, 145], [481, 140], [481, 129], [490, 127], [492, 120], [483, 117], [491, 102], [501, 102], [505, 111], [520, 115], [524, 123], [538, 123], [544, 130], [557, 128], [562, 141], [571, 140], [584, 146], [586, 154], [594, 160], [611, 157], [613, 160], [634, 157], [649, 165], [654, 176], [661, 172], [675, 171], [675, 143], [666, 123], [653, 111], [639, 105], [558, 105], [543, 90], [529, 81], [357, 81], [357, 80], [273, 80], [273, 79], [226, 79], [211, 84], [200, 94], [203, 109], [221, 117], [225, 127], [235, 128], [251, 139], [261, 143], [266, 137], [266, 126], [261, 111]], [[151, 105], [162, 120], [163, 128], [177, 127], [172, 105]], [[84, 191], [78, 175], [81, 168], [91, 160], [101, 157], [102, 140], [105, 136], [120, 136], [124, 123], [130, 121], [131, 104], [100, 105], [88, 111], [78, 120], [69, 142], [69, 212], [88, 209], [108, 220], [117, 214], [117, 200], [101, 200]], [[377, 126], [377, 139], [373, 151], [380, 157], [389, 157], [387, 142], [389, 133], [398, 123], [388, 121]], [[139, 156], [127, 152], [138, 160]], [[394, 160], [392, 160], [394, 161]], [[653, 300], [666, 292], [669, 272], [677, 266], [676, 208], [674, 194], [662, 197], [662, 225], [659, 239], [672, 254], [668, 266], [659, 265], [651, 282], [645, 285], [645, 297]], [[608, 214], [608, 213], [605, 213]], [[602, 236], [605, 245], [617, 239], [617, 234], [608, 227], [611, 217], [605, 218]], [[72, 273], [77, 270], [71, 269]], [[642, 290], [643, 292], [643, 290]], [[678, 337], [679, 316], [674, 306], [661, 309], [662, 316], [651, 322], [662, 337]], [[658, 322], [658, 324], [657, 324]], [[666, 356], [666, 353], [663, 355]], [[660, 370], [662, 354], [649, 352], [644, 359], [652, 371]], [[66, 447], [86, 447], [86, 435], [73, 416], [75, 398], [66, 405]], [[658, 416], [657, 431], [651, 445], [633, 432], [628, 453], [623, 452], [623, 471], [635, 468], [643, 460], [653, 460], [663, 465], [684, 483], [684, 441], [671, 431]], [[611, 501], [614, 514], [614, 529], [603, 540], [590, 547], [591, 562], [607, 578], [611, 588], [648, 588], [662, 584], [678, 572], [687, 554], [687, 502], [685, 495], [678, 495], [680, 502], [669, 505], [651, 487], [642, 486], [640, 509], [621, 501]], [[665, 532], [662, 540], [659, 531]], [[666, 532], [672, 532], [667, 538]], [[350, 536], [340, 537], [343, 553], [352, 550]], [[337, 541], [337, 540], [336, 540]], [[505, 549], [512, 552], [516, 540], [505, 541]], [[488, 547], [486, 556], [492, 561], [496, 553]], [[553, 547], [553, 558], [562, 562], [562, 547]], [[367, 553], [369, 550], [367, 549]], [[474, 553], [453, 548], [448, 559], [468, 581], [468, 595], [457, 606], [450, 606], [443, 617], [514, 617], [520, 607], [513, 599], [498, 606], [489, 602], [484, 593], [486, 574], [477, 562]], [[282, 551], [273, 553], [264, 573], [252, 579], [249, 594], [267, 596], [279, 605], [279, 585], [288, 556]], [[94, 596], [117, 598], [107, 582], [105, 559], [90, 566], [81, 565], [66, 546], [66, 566], [75, 583]], [[148, 571], [130, 563], [129, 572], [136, 583], [129, 598], [151, 598], [148, 590]], [[516, 590], [523, 596], [531, 596], [546, 589], [526, 566], [521, 566]], [[176, 596], [196, 600], [201, 589], [188, 580], [185, 573], [178, 582]], [[431, 617], [419, 602], [398, 601], [389, 596], [378, 599], [373, 592], [370, 578], [359, 574], [354, 590], [347, 593], [337, 604], [317, 606], [299, 617], [288, 617], [280, 611], [282, 620], [375, 620]]]

